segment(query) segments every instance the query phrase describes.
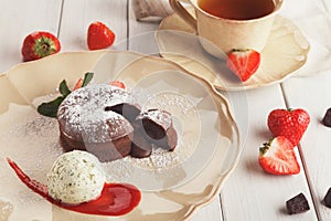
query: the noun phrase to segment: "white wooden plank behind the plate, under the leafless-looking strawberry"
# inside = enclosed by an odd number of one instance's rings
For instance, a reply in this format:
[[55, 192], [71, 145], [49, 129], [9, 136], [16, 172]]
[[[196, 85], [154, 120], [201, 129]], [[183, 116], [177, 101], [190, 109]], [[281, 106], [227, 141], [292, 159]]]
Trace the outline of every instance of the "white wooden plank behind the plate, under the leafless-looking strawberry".
[[114, 44], [127, 39], [127, 1], [65, 0], [60, 29], [62, 51], [88, 50], [87, 29], [94, 21], [102, 21], [114, 31]]

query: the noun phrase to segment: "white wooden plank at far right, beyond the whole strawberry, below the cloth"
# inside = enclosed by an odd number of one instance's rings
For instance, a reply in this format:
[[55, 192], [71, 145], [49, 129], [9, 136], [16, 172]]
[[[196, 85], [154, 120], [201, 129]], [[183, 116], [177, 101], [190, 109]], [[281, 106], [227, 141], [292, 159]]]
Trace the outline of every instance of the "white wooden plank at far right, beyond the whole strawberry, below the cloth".
[[321, 120], [331, 107], [331, 72], [310, 77], [296, 77], [284, 84], [289, 107], [301, 107], [310, 114], [311, 122], [300, 143], [300, 150], [307, 168], [307, 177], [314, 196], [321, 220], [331, 219], [331, 209], [323, 204], [323, 198], [331, 187], [331, 128]]

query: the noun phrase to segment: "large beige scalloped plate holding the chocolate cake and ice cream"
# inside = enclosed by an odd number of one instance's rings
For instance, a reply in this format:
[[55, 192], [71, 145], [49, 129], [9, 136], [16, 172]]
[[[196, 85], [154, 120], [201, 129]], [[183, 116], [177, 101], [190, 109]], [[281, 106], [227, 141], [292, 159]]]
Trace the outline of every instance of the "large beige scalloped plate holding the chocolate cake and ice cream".
[[[143, 108], [171, 112], [180, 137], [174, 152], [103, 164], [108, 181], [130, 182], [142, 192], [139, 206], [122, 217], [54, 207], [22, 185], [6, 162], [11, 158], [45, 183], [62, 149], [56, 120], [39, 115], [35, 106], [54, 97], [62, 80], [73, 85], [87, 71], [95, 72], [94, 83], [124, 81]], [[217, 196], [242, 151], [226, 99], [204, 80], [157, 57], [115, 51], [52, 55], [0, 75], [0, 211], [9, 220], [185, 220]]]

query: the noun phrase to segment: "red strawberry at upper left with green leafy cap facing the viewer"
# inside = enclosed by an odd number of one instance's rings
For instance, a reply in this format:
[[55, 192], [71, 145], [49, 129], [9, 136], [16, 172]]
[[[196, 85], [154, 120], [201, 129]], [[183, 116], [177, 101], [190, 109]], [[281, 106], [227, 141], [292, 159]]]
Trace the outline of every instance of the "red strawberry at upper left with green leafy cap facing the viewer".
[[58, 39], [50, 32], [36, 31], [25, 36], [21, 53], [23, 61], [39, 60], [60, 52]]

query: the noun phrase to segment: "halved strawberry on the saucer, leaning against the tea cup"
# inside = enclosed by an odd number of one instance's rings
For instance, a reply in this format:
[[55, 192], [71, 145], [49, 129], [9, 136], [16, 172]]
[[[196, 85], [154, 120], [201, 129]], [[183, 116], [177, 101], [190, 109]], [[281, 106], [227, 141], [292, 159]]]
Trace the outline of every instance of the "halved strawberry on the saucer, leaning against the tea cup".
[[226, 65], [243, 82], [247, 81], [259, 67], [260, 53], [252, 49], [233, 50]]

